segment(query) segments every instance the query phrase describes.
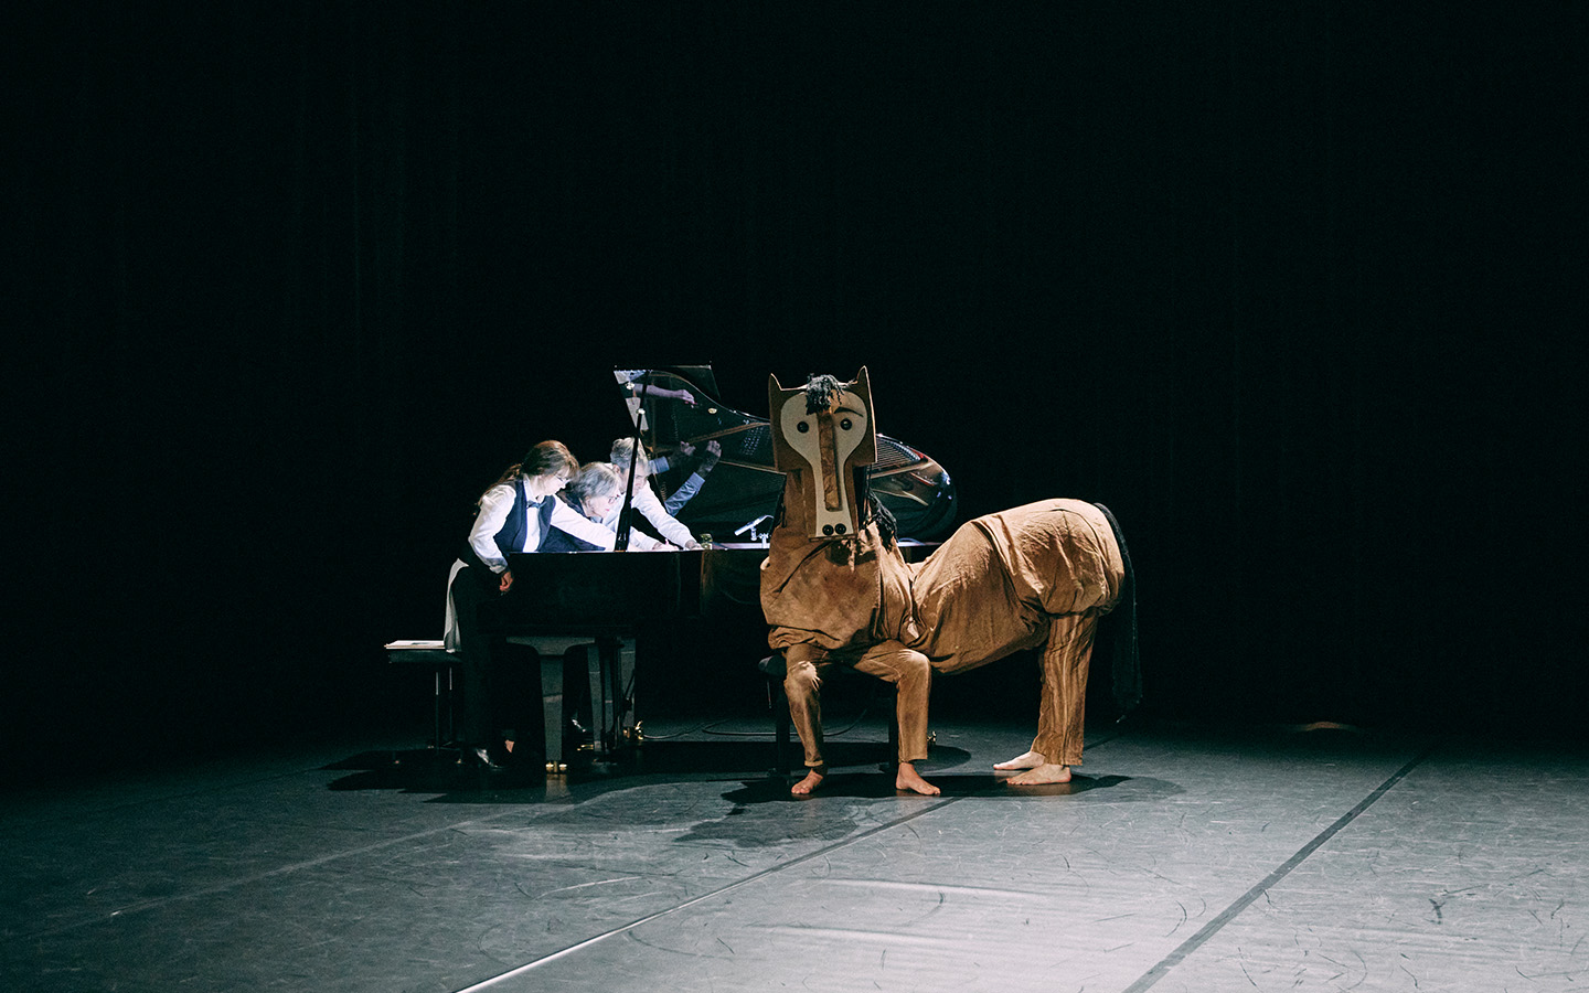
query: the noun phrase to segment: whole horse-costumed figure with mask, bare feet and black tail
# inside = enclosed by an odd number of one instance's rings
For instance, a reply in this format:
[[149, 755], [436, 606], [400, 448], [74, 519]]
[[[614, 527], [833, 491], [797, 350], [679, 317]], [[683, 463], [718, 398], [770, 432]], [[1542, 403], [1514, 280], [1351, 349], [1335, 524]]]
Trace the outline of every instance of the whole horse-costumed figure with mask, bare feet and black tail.
[[[774, 464], [783, 499], [761, 566], [767, 643], [785, 661], [790, 715], [815, 790], [823, 672], [847, 664], [898, 686], [895, 785], [936, 794], [926, 758], [933, 672], [965, 672], [1041, 647], [1042, 696], [1031, 748], [998, 771], [1025, 786], [1063, 783], [1082, 761], [1082, 710], [1098, 620], [1128, 593], [1130, 559], [1112, 515], [1082, 500], [1039, 500], [961, 524], [926, 561], [909, 564], [893, 520], [868, 491], [877, 458], [871, 383], [812, 377], [767, 383]], [[1122, 705], [1136, 702], [1135, 631], [1115, 667]]]

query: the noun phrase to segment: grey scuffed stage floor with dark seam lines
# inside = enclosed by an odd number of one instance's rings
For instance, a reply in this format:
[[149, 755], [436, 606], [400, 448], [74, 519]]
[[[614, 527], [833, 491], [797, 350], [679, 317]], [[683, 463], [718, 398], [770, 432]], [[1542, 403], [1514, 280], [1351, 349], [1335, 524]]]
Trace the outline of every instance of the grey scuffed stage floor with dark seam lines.
[[13, 793], [0, 988], [1589, 988], [1581, 747], [1098, 729], [1015, 791], [1030, 731], [963, 723], [922, 798], [863, 724], [791, 801], [756, 728], [550, 786], [389, 764], [416, 731]]

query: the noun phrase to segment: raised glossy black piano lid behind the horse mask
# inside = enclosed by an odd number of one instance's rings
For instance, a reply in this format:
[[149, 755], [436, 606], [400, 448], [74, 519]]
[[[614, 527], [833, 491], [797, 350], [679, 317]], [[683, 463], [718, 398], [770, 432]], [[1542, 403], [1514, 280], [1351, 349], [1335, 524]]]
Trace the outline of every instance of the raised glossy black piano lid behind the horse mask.
[[[710, 365], [617, 369], [613, 377], [631, 423], [640, 416], [647, 450], [667, 458], [667, 469], [655, 475], [664, 499], [685, 485], [707, 442], [723, 448], [717, 469], [674, 516], [696, 534], [725, 542], [772, 529], [783, 473], [772, 466], [767, 418], [723, 405]], [[694, 446], [694, 456], [683, 456], [680, 445]], [[901, 539], [928, 540], [955, 521], [955, 486], [944, 467], [885, 434], [877, 435], [871, 485], [899, 523]]]

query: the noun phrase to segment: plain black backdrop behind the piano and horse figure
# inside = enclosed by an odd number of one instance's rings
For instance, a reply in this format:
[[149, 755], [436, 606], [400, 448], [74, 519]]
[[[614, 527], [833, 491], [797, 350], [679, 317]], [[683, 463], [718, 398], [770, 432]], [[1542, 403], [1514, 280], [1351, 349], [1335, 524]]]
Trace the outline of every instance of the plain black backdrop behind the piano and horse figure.
[[675, 362], [1109, 504], [1162, 713], [1576, 726], [1589, 14], [1510, 6], [17, 5], [10, 732], [373, 720]]

